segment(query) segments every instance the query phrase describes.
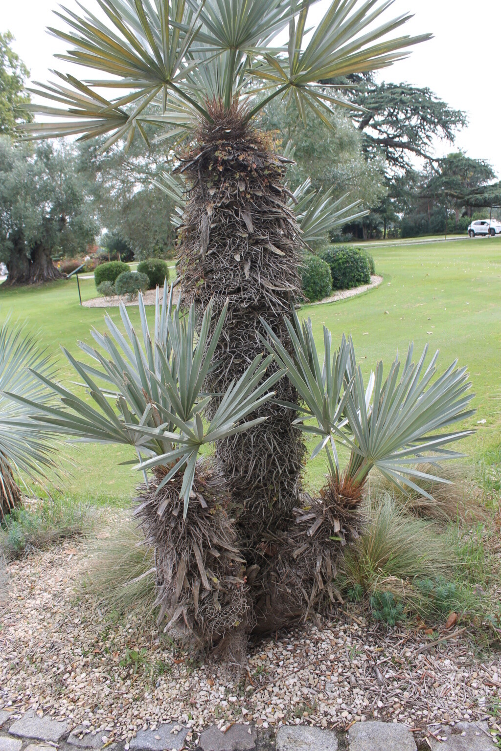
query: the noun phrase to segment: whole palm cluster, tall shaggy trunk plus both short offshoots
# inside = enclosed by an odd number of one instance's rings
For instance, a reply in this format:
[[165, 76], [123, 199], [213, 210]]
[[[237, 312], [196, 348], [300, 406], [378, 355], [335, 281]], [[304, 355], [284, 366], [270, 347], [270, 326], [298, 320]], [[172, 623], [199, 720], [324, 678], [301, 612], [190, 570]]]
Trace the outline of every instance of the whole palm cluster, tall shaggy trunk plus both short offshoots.
[[[62, 406], [42, 422], [134, 446], [144, 473], [137, 517], [155, 549], [159, 617], [228, 662], [243, 662], [250, 634], [335, 601], [336, 562], [361, 528], [371, 466], [396, 481], [412, 478], [418, 452], [442, 457], [443, 445], [463, 435], [429, 437], [463, 416], [464, 372], [447, 372], [437, 391], [433, 366], [423, 372], [420, 360], [414, 368], [411, 351], [398, 384], [398, 360], [384, 386], [378, 366], [366, 404], [352, 343], [343, 339], [331, 354], [328, 339], [322, 382], [312, 333], [306, 344], [287, 318], [301, 297], [305, 244], [364, 212], [308, 179], [291, 192], [294, 144], [277, 152], [258, 113], [281, 97], [303, 122], [307, 114], [330, 122], [345, 103], [319, 81], [384, 68], [427, 38], [393, 38], [409, 17], [382, 19], [388, 5], [332, 0], [307, 41], [309, 2], [105, 0], [104, 20], [62, 11], [69, 31], [53, 33], [70, 46], [65, 59], [96, 77], [59, 74], [60, 83], [37, 90], [48, 104], [32, 105], [50, 122], [24, 126], [29, 137], [107, 133], [104, 149], [128, 149], [136, 136], [147, 148], [149, 129], [158, 128], [179, 157], [175, 173], [155, 185], [176, 207], [186, 317], [171, 310], [164, 288], [150, 333], [140, 295], [139, 338], [122, 306], [125, 336], [107, 319], [108, 335], [94, 334], [102, 351], [83, 345], [95, 366], [68, 353], [98, 409], [53, 385]], [[284, 46], [276, 44], [282, 32]], [[103, 89], [113, 88], [116, 97], [105, 98]], [[264, 357], [265, 346], [273, 354]], [[331, 478], [318, 498], [305, 499], [310, 413], [320, 420], [318, 451], [330, 451]], [[334, 441], [341, 436], [352, 448], [344, 472]], [[213, 457], [199, 460], [208, 442]]]

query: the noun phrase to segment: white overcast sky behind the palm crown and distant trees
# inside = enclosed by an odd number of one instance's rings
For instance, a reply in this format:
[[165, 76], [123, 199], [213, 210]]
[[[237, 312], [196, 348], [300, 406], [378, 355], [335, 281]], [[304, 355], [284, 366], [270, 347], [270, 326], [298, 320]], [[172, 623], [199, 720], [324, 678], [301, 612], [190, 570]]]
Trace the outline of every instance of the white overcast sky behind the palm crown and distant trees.
[[[95, 0], [85, 5], [97, 7]], [[52, 11], [56, 0], [0, 0], [0, 31], [15, 36], [14, 49], [28, 65], [32, 79], [46, 81], [50, 68], [65, 63], [52, 55], [64, 46], [45, 32], [58, 26]], [[75, 7], [74, 0], [64, 3]], [[318, 17], [326, 2], [312, 8]], [[383, 72], [382, 78], [416, 86], [429, 86], [452, 107], [464, 110], [469, 125], [460, 132], [456, 146], [469, 156], [484, 158], [501, 178], [501, 71], [499, 35], [501, 0], [395, 0], [392, 15], [410, 11], [414, 18], [406, 25], [411, 34], [432, 32], [434, 38], [415, 47], [412, 55]], [[313, 15], [314, 14], [314, 15]], [[447, 153], [450, 144], [440, 144]]]

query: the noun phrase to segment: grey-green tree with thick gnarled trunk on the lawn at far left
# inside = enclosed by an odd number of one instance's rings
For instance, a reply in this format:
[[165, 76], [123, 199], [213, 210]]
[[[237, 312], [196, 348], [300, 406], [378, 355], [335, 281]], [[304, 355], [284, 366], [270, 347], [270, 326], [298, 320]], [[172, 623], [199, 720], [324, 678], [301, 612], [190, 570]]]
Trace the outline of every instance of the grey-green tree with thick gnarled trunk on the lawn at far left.
[[59, 279], [53, 255], [77, 255], [98, 227], [71, 146], [14, 145], [0, 137], [0, 260], [5, 285]]

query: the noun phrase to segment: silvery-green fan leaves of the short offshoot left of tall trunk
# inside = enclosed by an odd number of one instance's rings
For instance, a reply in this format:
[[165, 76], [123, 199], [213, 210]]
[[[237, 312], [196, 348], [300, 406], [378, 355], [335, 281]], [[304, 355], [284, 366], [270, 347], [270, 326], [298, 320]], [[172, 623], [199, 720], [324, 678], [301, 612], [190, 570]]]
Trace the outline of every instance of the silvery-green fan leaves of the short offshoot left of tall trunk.
[[[50, 379], [44, 382], [59, 397], [61, 406], [45, 409], [44, 405], [26, 402], [38, 409], [36, 419], [44, 430], [85, 441], [133, 446], [140, 457], [136, 469], [142, 470], [145, 477], [146, 470], [152, 467], [170, 466], [158, 488], [182, 472], [180, 497], [186, 517], [201, 448], [261, 424], [266, 418], [246, 421], [246, 417], [273, 397], [270, 388], [283, 372], [278, 369], [264, 378], [273, 358], [259, 354], [240, 379], [231, 383], [212, 419], [204, 423], [202, 415], [208, 401], [204, 381], [228, 308], [222, 309], [210, 335], [213, 303], [199, 322], [194, 304], [188, 315], [180, 315], [179, 303], [172, 311], [172, 292], [165, 282], [161, 302], [157, 293], [153, 336], [140, 296], [142, 344], [123, 304], [120, 315], [130, 344], [109, 316], [105, 318], [108, 336], [92, 332], [106, 357], [80, 342], [86, 355], [101, 369], [75, 360], [63, 349], [98, 409]], [[105, 391], [101, 391], [96, 379], [107, 384]], [[116, 409], [107, 398], [110, 386], [117, 394]]]

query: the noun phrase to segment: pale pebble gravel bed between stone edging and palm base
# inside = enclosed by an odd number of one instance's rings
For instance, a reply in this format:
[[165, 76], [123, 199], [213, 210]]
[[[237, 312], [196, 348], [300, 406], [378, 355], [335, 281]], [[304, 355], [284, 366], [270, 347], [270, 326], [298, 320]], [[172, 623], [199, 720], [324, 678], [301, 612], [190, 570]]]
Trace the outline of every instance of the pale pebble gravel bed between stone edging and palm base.
[[163, 722], [187, 725], [194, 741], [214, 721], [270, 731], [285, 723], [346, 729], [369, 719], [431, 732], [487, 718], [498, 727], [490, 707], [501, 703], [501, 656], [475, 659], [464, 632], [431, 647], [436, 636], [366, 623], [354, 606], [321, 627], [252, 647], [236, 685], [158, 634], [151, 614], [113, 620], [91, 593], [77, 594], [88, 556], [85, 541], [67, 541], [8, 564], [0, 710], [81, 723], [105, 743], [125, 740], [125, 749], [140, 728]]

